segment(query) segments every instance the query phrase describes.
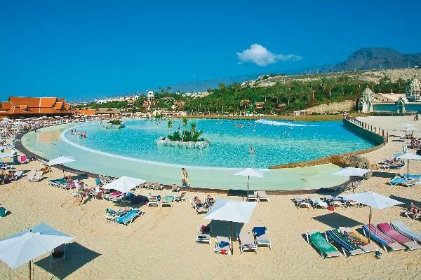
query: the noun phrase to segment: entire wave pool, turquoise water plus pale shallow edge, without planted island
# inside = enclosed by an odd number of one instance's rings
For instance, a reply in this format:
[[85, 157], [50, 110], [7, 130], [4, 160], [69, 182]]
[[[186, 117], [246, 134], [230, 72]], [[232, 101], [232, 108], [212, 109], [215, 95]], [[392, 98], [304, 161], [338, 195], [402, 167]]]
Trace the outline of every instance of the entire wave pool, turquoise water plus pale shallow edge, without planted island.
[[[190, 120], [192, 122], [192, 120]], [[189, 150], [158, 147], [154, 140], [168, 129], [164, 121], [127, 120], [126, 128], [105, 130], [100, 123], [45, 127], [22, 137], [22, 144], [43, 158], [73, 155], [67, 166], [111, 176], [133, 176], [160, 183], [181, 183], [181, 167], [196, 188], [245, 189], [247, 178], [234, 176], [244, 167], [263, 170], [264, 178], [250, 179], [254, 190], [304, 190], [337, 186], [347, 178], [332, 176], [336, 165], [267, 169], [269, 165], [311, 160], [361, 150], [374, 144], [346, 130], [341, 122], [265, 123], [240, 120], [194, 120], [210, 148]], [[239, 125], [241, 123], [241, 125]], [[86, 132], [86, 139], [70, 130]], [[255, 155], [250, 155], [252, 145]]]

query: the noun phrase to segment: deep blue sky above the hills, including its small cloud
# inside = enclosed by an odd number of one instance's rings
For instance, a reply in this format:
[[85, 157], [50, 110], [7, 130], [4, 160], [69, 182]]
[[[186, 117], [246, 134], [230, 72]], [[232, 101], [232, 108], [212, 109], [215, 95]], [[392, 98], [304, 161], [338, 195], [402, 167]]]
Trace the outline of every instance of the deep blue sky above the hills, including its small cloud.
[[421, 52], [420, 1], [280, 2], [2, 1], [0, 99], [279, 73], [362, 47]]

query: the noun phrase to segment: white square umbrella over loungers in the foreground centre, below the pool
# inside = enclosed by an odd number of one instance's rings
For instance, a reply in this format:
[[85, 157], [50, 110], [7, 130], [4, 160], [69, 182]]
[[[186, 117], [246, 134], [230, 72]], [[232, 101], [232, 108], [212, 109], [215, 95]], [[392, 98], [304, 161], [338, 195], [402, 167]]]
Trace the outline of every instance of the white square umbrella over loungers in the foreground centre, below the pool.
[[231, 222], [232, 250], [232, 238], [234, 237], [233, 223], [248, 223], [257, 204], [258, 202], [219, 199], [210, 207], [210, 211], [204, 216], [204, 219]]

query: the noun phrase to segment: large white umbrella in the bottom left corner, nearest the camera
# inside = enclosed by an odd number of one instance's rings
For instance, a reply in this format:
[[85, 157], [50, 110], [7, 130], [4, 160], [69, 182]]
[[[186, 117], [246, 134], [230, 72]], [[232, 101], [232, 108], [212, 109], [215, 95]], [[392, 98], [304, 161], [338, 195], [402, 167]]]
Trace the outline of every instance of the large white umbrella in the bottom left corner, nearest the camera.
[[0, 260], [15, 269], [29, 262], [29, 279], [31, 279], [31, 262], [34, 258], [52, 251], [55, 247], [74, 239], [70, 235], [59, 232], [45, 223], [35, 225], [0, 240]]

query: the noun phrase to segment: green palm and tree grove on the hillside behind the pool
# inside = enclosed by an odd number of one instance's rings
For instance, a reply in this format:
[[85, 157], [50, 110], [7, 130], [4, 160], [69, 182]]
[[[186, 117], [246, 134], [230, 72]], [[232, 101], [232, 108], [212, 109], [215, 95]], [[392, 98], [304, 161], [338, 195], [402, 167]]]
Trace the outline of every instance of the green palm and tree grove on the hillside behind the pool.
[[[347, 75], [322, 78], [321, 76], [283, 76], [282, 80], [276, 81], [274, 85], [262, 86], [268, 78], [269, 76], [262, 76], [246, 85], [220, 84], [218, 88], [208, 90], [209, 94], [203, 97], [191, 97], [181, 92], [171, 92], [171, 87], [160, 87], [159, 92], [155, 94], [152, 109], [186, 111], [192, 114], [220, 115], [253, 112], [281, 115], [319, 104], [345, 100], [356, 101], [366, 87], [370, 87], [373, 92], [403, 93], [409, 82], [401, 78], [392, 82], [386, 76], [378, 83], [370, 83]], [[131, 106], [128, 106], [127, 101], [123, 101], [103, 104], [92, 102], [79, 107], [92, 109], [116, 107], [127, 112], [145, 112], [145, 99], [145, 96], [141, 96]]]

